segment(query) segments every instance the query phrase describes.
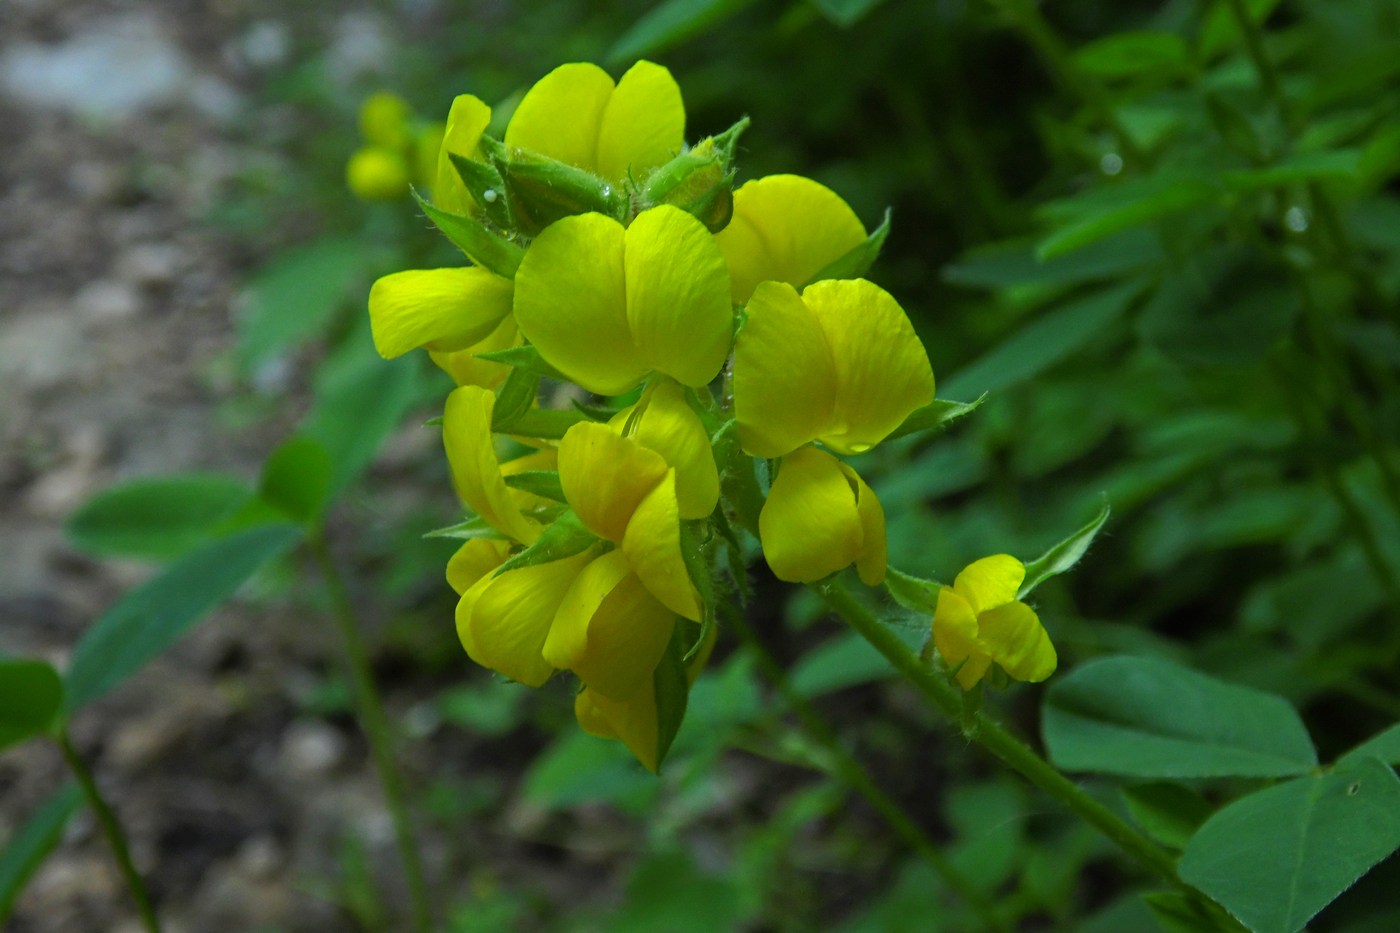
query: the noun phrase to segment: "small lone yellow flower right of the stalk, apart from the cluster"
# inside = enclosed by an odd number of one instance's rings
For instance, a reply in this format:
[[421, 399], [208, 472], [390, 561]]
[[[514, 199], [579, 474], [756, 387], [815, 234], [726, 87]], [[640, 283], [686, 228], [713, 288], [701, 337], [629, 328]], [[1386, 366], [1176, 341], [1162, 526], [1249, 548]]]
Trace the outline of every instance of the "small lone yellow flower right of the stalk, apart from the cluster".
[[1026, 567], [1009, 555], [976, 560], [938, 591], [934, 644], [972, 689], [995, 663], [1018, 681], [1043, 681], [1056, 668], [1054, 644], [1040, 618], [1016, 600]]

